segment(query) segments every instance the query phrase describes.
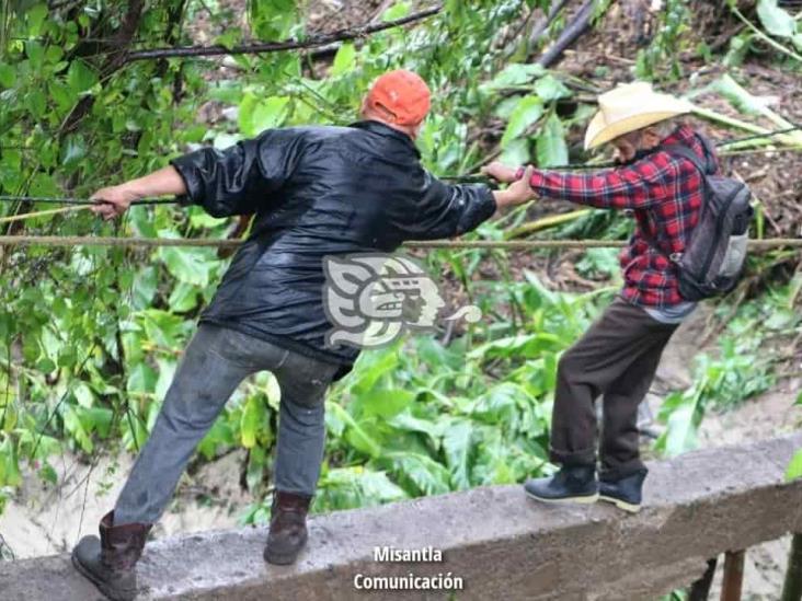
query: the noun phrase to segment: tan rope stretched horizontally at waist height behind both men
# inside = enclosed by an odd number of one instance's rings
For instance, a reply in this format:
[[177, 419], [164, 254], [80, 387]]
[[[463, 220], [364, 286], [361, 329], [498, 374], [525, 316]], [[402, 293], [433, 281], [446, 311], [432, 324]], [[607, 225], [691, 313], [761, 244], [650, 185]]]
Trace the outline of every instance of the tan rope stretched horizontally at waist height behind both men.
[[[127, 246], [153, 249], [159, 246], [229, 247], [243, 244], [242, 240], [203, 238], [113, 238], [93, 235], [0, 235], [0, 246]], [[406, 249], [491, 249], [531, 251], [537, 249], [620, 249], [623, 240], [431, 240], [412, 241]], [[802, 238], [769, 238], [749, 240], [749, 249], [802, 249]]]

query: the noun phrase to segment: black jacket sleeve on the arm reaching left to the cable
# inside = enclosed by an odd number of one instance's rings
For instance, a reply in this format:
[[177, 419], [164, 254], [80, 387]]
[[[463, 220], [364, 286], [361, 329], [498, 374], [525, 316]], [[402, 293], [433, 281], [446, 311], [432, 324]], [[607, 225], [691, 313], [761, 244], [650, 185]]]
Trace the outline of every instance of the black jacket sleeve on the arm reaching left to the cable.
[[186, 185], [183, 205], [199, 205], [214, 217], [266, 208], [291, 176], [299, 136], [268, 129], [225, 150], [202, 148], [170, 161]]

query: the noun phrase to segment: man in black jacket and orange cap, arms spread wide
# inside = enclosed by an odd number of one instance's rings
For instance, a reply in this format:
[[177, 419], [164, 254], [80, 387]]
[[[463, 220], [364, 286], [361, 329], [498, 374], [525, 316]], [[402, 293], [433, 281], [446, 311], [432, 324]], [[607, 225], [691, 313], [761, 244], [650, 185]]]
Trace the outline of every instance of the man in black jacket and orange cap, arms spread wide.
[[204, 148], [145, 177], [99, 190], [95, 211], [122, 215], [137, 198], [173, 194], [216, 217], [255, 213], [200, 316], [150, 438], [113, 511], [73, 550], [76, 567], [113, 599], [136, 593], [135, 564], [195, 447], [239, 383], [270, 370], [282, 398], [265, 559], [290, 564], [323, 456], [323, 396], [358, 355], [328, 347], [323, 257], [392, 252], [405, 240], [473, 230], [496, 208], [534, 197], [524, 177], [503, 192], [446, 185], [413, 140], [429, 107], [416, 74], [392, 71], [350, 127], [271, 129], [225, 151]]

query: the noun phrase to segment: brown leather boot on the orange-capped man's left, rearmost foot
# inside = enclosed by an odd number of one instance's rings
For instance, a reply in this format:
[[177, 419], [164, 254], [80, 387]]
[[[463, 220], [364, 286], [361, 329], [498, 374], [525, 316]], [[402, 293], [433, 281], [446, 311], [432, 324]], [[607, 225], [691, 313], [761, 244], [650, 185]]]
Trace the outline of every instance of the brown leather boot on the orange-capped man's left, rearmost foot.
[[72, 550], [72, 565], [113, 601], [137, 594], [136, 563], [152, 524], [114, 525], [114, 511], [100, 522], [100, 539], [84, 536]]

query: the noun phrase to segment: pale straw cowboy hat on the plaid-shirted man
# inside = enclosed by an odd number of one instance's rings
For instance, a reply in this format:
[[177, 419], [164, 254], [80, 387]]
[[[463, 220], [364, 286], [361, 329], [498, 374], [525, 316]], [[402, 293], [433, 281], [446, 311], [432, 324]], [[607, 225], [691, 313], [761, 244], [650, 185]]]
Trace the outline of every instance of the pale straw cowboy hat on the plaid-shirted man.
[[599, 147], [623, 134], [690, 113], [694, 107], [687, 101], [655, 92], [651, 83], [637, 81], [599, 95], [598, 108], [585, 132], [585, 150]]

